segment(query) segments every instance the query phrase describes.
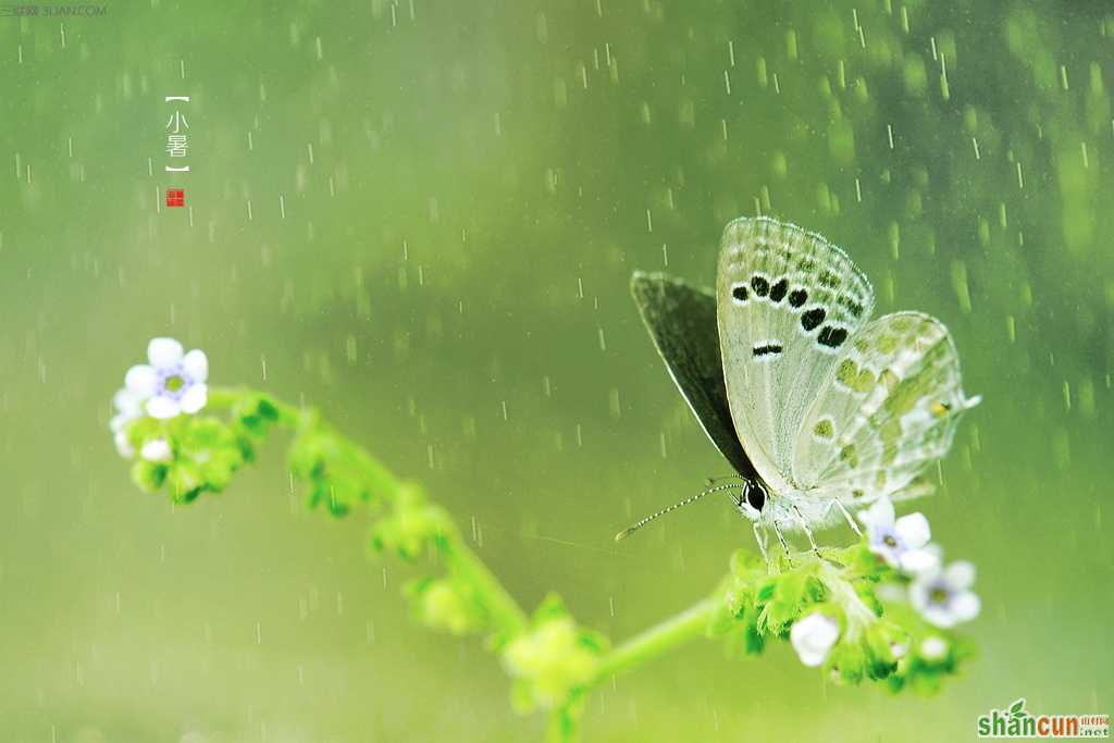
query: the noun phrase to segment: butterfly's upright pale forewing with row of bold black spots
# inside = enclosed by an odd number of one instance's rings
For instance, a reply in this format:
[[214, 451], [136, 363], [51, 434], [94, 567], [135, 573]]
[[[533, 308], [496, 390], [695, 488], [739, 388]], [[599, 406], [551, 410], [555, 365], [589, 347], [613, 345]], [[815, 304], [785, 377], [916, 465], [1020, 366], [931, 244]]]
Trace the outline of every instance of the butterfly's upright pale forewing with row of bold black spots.
[[797, 432], [870, 317], [870, 282], [820, 235], [744, 217], [723, 231], [716, 301], [735, 430], [774, 491], [792, 489]]

